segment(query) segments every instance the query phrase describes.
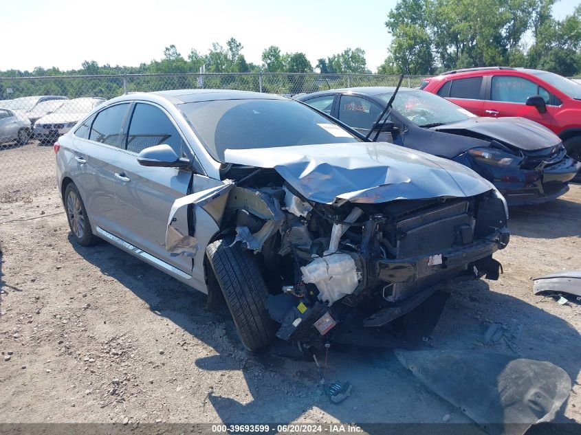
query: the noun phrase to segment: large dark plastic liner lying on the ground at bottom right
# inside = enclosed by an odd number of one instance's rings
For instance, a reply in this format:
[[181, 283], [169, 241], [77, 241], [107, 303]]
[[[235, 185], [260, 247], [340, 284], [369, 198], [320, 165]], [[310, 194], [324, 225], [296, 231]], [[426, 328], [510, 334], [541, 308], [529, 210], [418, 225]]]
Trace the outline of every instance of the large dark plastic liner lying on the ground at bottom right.
[[492, 435], [520, 435], [550, 421], [571, 390], [567, 372], [547, 361], [472, 350], [395, 354], [424, 385]]

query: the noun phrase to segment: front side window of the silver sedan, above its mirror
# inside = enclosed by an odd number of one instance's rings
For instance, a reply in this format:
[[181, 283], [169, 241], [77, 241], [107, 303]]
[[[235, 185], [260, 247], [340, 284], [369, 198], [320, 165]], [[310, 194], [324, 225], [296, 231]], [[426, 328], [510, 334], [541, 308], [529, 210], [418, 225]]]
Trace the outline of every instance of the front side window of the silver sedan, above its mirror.
[[166, 144], [182, 157], [182, 136], [167, 115], [151, 104], [138, 103], [131, 117], [127, 150], [140, 153], [149, 146]]

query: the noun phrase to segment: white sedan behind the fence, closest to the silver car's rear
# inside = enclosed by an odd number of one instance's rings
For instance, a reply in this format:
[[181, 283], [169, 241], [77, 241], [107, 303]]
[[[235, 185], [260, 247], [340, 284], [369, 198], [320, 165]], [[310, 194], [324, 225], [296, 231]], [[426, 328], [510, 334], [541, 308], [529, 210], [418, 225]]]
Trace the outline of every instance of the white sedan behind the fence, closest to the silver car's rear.
[[64, 135], [77, 122], [105, 102], [105, 98], [74, 98], [66, 100], [50, 115], [45, 115], [34, 124], [34, 137], [41, 143], [54, 142], [58, 136]]

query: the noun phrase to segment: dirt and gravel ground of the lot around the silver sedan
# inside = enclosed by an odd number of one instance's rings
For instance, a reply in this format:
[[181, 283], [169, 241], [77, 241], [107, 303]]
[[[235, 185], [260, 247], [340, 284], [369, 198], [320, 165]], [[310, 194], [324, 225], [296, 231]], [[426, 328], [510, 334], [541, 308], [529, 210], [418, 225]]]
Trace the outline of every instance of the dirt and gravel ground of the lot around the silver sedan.
[[[205, 295], [107, 243], [72, 244], [48, 172], [34, 187], [1, 191], [0, 422], [470, 423], [389, 349], [331, 347], [325, 377], [353, 384], [338, 405], [294, 347], [246, 354], [228, 313], [206, 309]], [[534, 296], [529, 280], [581, 269], [581, 186], [512, 210], [509, 227], [511, 243], [496, 255], [501, 279], [449, 287], [435, 328], [424, 336], [415, 322], [410, 337], [551, 361], [573, 381], [557, 419], [581, 422], [580, 306]], [[494, 322], [523, 332], [485, 346]]]

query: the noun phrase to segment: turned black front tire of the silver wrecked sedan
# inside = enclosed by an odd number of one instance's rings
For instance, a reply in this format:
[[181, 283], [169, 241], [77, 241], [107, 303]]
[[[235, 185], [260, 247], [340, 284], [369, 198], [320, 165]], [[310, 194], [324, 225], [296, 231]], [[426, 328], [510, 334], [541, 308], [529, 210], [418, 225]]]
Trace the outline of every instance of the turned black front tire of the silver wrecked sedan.
[[275, 324], [265, 301], [268, 290], [254, 254], [232, 239], [210, 243], [208, 261], [222, 290], [238, 336], [250, 352], [265, 348], [274, 338]]

